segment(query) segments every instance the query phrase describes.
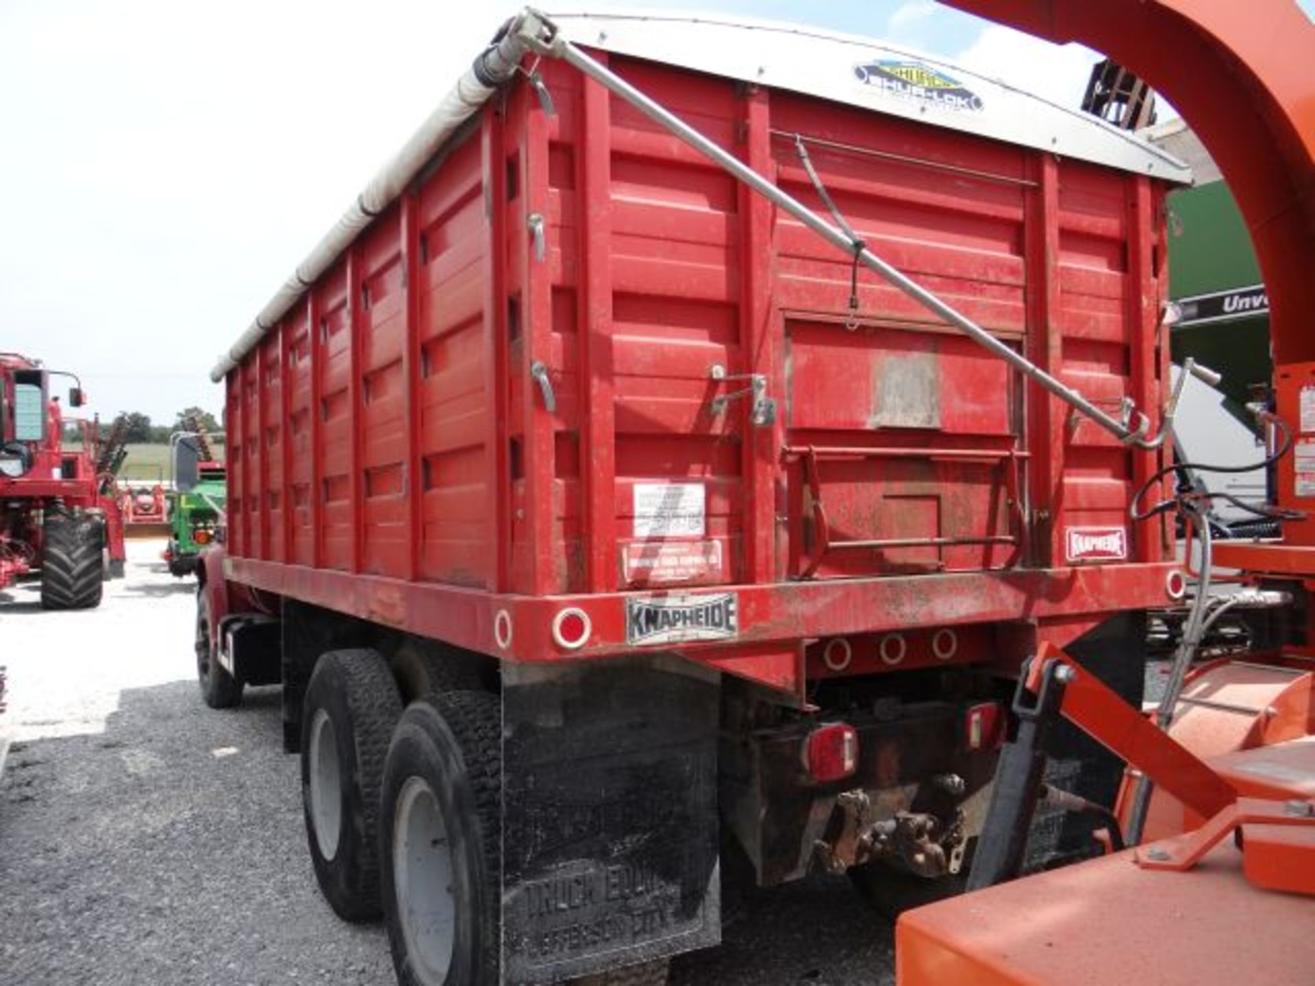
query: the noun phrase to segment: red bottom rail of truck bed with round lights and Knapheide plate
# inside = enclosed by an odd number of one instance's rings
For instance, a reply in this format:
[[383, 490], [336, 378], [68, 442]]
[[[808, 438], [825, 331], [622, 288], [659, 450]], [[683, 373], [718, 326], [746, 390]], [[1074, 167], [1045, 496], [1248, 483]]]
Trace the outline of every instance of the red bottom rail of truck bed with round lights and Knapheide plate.
[[[794, 692], [803, 644], [819, 638], [972, 623], [1097, 619], [1169, 602], [1173, 563], [964, 572], [884, 578], [729, 585], [681, 593], [506, 596], [433, 582], [226, 556], [225, 577], [360, 619], [514, 661], [575, 661], [644, 651], [692, 660]], [[692, 606], [730, 597], [731, 626], [676, 627], [636, 639], [631, 617], [654, 599]], [[555, 632], [583, 614], [583, 643]], [[725, 617], [725, 613], [722, 614]], [[693, 621], [690, 621], [693, 623]], [[967, 663], [969, 655], [951, 661]]]

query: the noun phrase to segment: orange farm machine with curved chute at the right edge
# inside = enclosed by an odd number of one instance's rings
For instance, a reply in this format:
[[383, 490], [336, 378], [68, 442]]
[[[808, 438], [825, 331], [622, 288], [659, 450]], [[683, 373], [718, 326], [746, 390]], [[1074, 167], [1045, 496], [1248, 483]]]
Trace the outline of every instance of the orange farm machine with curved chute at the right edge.
[[[1279, 542], [1222, 543], [1215, 561], [1291, 592], [1304, 632], [1253, 661], [1195, 669], [1169, 734], [1066, 655], [1043, 652], [1019, 686], [1015, 824], [974, 861], [984, 889], [901, 918], [897, 982], [1312, 983], [1315, 28], [1289, 0], [945, 3], [1107, 53], [1178, 108], [1228, 180], [1269, 291], [1277, 415], [1294, 433], [1278, 505], [1306, 518], [1285, 522]], [[1130, 778], [1155, 782], [1147, 841], [1010, 880], [1040, 787], [1035, 755], [1059, 714], [1123, 756]]]

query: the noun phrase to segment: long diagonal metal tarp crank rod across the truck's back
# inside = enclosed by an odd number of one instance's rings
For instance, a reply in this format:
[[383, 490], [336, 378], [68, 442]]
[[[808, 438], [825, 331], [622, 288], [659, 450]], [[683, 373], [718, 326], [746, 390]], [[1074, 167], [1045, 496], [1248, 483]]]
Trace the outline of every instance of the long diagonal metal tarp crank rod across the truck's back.
[[[1023, 373], [1023, 376], [1031, 379], [1038, 387], [1041, 387], [1059, 397], [1061, 401], [1073, 408], [1077, 414], [1081, 414], [1084, 418], [1089, 418], [1099, 425], [1122, 443], [1130, 447], [1153, 451], [1162, 447], [1173, 434], [1173, 415], [1169, 413], [1173, 409], [1165, 410], [1165, 414], [1161, 418], [1160, 430], [1155, 435], [1148, 434], [1151, 431], [1149, 418], [1135, 408], [1130, 408], [1124, 411], [1122, 419], [1102, 410], [1094, 401], [1088, 400], [1078, 390], [1073, 389], [1057, 377], [1051, 376], [1020, 352], [1016, 352], [1007, 343], [1001, 342], [988, 330], [982, 329], [947, 301], [942, 300], [938, 294], [922, 287], [915, 280], [898, 271], [894, 266], [873, 254], [872, 250], [869, 250], [856, 235], [846, 233], [844, 230], [827, 222], [818, 213], [809, 209], [788, 192], [777, 188], [769, 180], [739, 160], [735, 155], [722, 150], [722, 147], [719, 147], [715, 142], [710, 141], [675, 113], [665, 109], [654, 99], [627, 83], [614, 71], [600, 63], [597, 59], [590, 58], [573, 43], [567, 41], [547, 16], [539, 13], [538, 11], [527, 9], [526, 16], [521, 18], [518, 29], [521, 32], [521, 39], [527, 47], [539, 55], [560, 58], [567, 62], [567, 64], [573, 66], [584, 75], [600, 83], [609, 92], [623, 99], [631, 106], [638, 109], [659, 126], [675, 134], [714, 164], [718, 164], [725, 171], [730, 172], [732, 177], [744, 183], [768, 201], [793, 216], [832, 246], [843, 250], [846, 256], [852, 258], [855, 263], [861, 263], [869, 271], [873, 271], [884, 277], [914, 301], [919, 302], [934, 314], [959, 329], [964, 333], [964, 335], [970, 338], [988, 352], [1005, 360]], [[1219, 381], [1219, 376], [1216, 373], [1206, 371], [1203, 367], [1194, 365], [1194, 368], [1189, 372], [1206, 383]]]

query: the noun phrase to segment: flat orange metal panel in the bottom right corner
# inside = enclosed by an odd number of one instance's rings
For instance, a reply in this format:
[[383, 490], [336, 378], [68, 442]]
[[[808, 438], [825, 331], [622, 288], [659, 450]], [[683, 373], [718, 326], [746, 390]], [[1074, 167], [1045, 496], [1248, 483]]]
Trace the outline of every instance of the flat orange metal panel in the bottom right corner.
[[1227, 841], [1187, 873], [1132, 851], [919, 907], [896, 926], [898, 986], [1299, 986], [1315, 898], [1257, 890]]

